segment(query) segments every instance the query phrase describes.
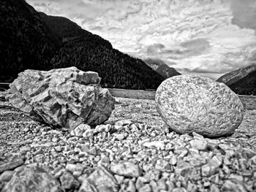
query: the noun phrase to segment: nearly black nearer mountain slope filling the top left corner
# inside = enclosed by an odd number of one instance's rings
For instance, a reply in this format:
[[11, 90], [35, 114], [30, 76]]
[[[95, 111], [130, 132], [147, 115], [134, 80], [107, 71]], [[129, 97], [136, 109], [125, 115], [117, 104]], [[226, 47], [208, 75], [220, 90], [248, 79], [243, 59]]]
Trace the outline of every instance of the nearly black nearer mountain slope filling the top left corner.
[[24, 69], [47, 69], [59, 46], [33, 7], [20, 0], [0, 1], [1, 82], [11, 82]]

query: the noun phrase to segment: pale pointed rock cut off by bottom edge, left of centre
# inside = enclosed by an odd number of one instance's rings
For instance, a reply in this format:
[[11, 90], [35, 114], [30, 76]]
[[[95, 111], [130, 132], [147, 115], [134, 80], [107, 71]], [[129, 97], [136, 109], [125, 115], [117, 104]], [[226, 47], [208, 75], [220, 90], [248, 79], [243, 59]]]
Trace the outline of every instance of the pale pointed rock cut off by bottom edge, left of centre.
[[89, 177], [83, 180], [79, 192], [118, 191], [116, 178], [104, 167], [97, 168]]

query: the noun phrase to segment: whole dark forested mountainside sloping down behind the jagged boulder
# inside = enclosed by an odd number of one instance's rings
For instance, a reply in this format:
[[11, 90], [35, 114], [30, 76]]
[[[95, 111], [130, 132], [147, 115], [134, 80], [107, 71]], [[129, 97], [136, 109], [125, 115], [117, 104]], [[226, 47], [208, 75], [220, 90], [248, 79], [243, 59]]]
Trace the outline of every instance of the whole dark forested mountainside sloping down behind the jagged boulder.
[[1, 0], [0, 22], [1, 81], [11, 82], [25, 69], [69, 66], [98, 72], [108, 88], [157, 88], [164, 80], [102, 37], [67, 18], [37, 12], [24, 0]]

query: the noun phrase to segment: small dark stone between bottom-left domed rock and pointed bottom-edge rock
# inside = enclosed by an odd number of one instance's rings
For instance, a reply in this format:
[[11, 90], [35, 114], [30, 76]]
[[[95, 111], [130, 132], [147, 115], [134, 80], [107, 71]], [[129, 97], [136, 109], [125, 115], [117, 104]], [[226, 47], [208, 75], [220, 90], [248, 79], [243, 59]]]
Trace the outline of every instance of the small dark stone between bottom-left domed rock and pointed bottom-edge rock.
[[59, 180], [61, 181], [61, 187], [64, 189], [75, 189], [80, 185], [78, 180], [76, 180], [75, 177], [69, 172], [64, 172], [61, 174]]

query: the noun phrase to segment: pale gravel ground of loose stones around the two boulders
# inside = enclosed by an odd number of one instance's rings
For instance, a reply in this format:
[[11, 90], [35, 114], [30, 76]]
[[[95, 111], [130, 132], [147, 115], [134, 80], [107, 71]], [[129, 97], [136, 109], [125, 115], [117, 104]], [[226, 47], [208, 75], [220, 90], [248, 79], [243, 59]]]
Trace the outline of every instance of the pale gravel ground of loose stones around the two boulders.
[[232, 136], [207, 139], [165, 127], [154, 101], [116, 101], [106, 126], [72, 133], [0, 102], [0, 190], [33, 164], [66, 191], [256, 191], [256, 110]]

